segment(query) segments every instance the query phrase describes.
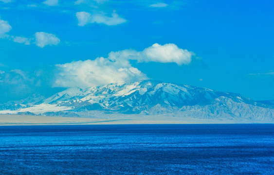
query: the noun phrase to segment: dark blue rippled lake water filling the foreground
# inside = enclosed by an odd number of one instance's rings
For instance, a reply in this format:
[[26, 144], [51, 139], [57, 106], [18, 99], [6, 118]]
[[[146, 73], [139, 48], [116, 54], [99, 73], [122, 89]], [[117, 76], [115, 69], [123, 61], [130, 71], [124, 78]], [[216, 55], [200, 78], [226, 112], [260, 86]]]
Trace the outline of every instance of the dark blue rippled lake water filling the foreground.
[[274, 124], [0, 126], [0, 175], [274, 175]]

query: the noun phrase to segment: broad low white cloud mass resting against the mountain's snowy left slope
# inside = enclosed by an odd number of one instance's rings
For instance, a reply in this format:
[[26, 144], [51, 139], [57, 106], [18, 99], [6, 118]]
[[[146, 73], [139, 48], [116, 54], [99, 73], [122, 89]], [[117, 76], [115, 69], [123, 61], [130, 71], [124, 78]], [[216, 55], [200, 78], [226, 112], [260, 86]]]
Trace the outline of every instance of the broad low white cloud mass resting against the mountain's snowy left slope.
[[95, 60], [76, 61], [56, 65], [60, 71], [56, 75], [54, 87], [92, 87], [118, 81], [138, 81], [146, 75], [132, 67], [128, 61], [98, 57]]

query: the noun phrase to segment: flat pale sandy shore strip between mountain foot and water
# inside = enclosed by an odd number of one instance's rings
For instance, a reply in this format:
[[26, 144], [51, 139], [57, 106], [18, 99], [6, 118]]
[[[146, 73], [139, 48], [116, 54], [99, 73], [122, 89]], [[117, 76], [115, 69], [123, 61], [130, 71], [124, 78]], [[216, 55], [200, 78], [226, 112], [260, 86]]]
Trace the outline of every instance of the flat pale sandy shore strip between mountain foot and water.
[[[55, 117], [17, 114], [0, 114], [0, 126], [4, 125], [72, 125], [72, 124], [208, 124], [208, 123], [246, 123], [219, 121], [186, 117], [104, 115], [89, 117]], [[260, 122], [256, 122], [260, 123]]]

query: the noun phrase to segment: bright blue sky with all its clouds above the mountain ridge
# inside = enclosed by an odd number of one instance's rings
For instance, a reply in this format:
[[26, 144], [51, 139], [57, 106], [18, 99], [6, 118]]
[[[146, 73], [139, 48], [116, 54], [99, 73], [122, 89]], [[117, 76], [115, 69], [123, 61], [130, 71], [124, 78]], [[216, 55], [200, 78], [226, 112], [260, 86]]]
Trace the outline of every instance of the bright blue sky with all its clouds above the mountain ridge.
[[160, 80], [274, 99], [273, 0], [0, 0], [0, 103]]

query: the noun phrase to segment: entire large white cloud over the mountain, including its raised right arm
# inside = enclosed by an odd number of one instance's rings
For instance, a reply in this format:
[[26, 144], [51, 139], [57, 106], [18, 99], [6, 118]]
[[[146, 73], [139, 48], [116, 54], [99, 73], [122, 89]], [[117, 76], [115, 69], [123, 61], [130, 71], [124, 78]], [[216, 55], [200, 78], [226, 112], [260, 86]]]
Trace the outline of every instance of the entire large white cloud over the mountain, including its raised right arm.
[[124, 50], [109, 53], [108, 58], [76, 61], [56, 65], [54, 87], [91, 87], [118, 81], [138, 81], [147, 79], [146, 74], [134, 68], [129, 60], [138, 62], [176, 63], [191, 62], [193, 53], [178, 48], [175, 44], [153, 44], [144, 51]]

